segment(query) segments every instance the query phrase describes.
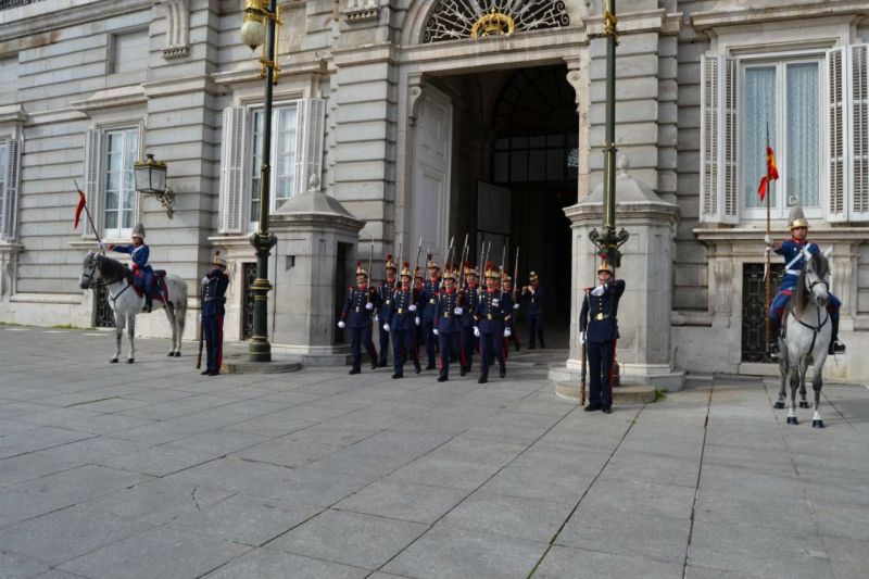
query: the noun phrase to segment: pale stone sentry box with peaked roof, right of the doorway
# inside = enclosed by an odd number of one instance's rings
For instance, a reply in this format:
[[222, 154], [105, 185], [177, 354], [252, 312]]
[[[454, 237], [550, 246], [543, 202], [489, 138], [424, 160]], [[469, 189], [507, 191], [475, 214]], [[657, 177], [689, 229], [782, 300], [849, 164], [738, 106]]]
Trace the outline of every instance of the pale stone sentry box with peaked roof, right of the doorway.
[[[628, 163], [619, 160], [616, 223], [631, 235], [622, 247], [621, 267], [616, 277], [627, 289], [618, 311], [617, 358], [621, 383], [643, 383], [662, 390], [679, 390], [684, 372], [673, 366], [670, 347], [672, 310], [672, 259], [679, 207], [662, 200], [647, 185], [628, 175]], [[574, 231], [574, 281], [570, 322], [570, 357], [564, 368], [550, 372], [555, 381], [580, 379], [582, 347], [579, 343], [579, 313], [582, 288], [596, 284], [599, 259], [589, 240], [600, 229], [603, 215], [603, 186], [581, 202], [565, 209]]]

